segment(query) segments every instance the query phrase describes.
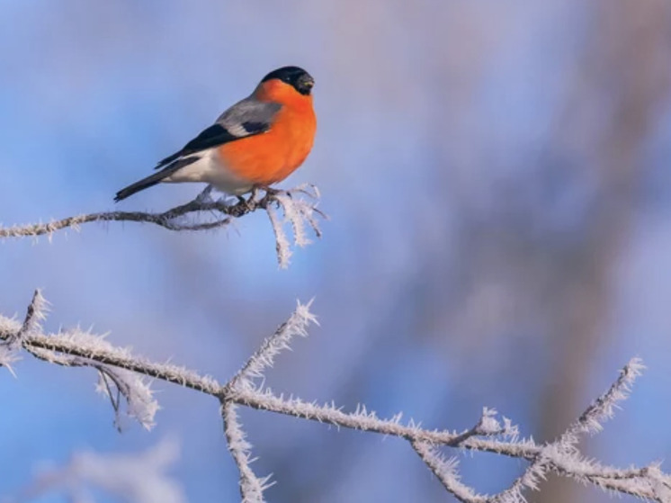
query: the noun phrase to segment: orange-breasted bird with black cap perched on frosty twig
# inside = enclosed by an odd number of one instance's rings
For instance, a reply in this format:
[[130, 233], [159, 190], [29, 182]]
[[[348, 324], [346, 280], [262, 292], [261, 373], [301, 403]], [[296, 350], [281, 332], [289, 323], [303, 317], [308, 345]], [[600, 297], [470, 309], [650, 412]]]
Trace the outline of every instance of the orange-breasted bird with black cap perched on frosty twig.
[[157, 173], [121, 189], [114, 201], [159, 183], [203, 182], [241, 198], [281, 182], [312, 149], [317, 130], [314, 85], [315, 79], [301, 67], [273, 70], [252, 94], [158, 162]]

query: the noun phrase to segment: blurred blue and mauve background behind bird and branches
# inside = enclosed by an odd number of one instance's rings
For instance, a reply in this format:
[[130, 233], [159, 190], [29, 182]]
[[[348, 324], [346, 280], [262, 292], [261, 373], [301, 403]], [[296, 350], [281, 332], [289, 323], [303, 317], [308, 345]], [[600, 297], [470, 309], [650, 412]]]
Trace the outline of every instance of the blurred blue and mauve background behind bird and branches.
[[[46, 328], [93, 326], [224, 381], [315, 297], [321, 327], [268, 373], [273, 390], [426, 427], [470, 427], [488, 406], [542, 441], [638, 355], [649, 370], [586, 453], [671, 454], [667, 1], [0, 0], [0, 47], [3, 224], [190, 200], [201, 186], [112, 196], [287, 64], [315, 76], [319, 125], [282, 186], [318, 184], [331, 217], [287, 271], [260, 212], [201, 234], [110, 223], [5, 240], [3, 314], [43, 287]], [[157, 427], [120, 435], [92, 371], [15, 370], [0, 373], [0, 494], [81, 450], [174, 437], [190, 501], [239, 499], [214, 400], [156, 383]], [[241, 416], [271, 501], [451, 500], [404, 441]], [[480, 491], [524, 467], [456, 454]], [[541, 490], [530, 499], [608, 500], [554, 478]]]

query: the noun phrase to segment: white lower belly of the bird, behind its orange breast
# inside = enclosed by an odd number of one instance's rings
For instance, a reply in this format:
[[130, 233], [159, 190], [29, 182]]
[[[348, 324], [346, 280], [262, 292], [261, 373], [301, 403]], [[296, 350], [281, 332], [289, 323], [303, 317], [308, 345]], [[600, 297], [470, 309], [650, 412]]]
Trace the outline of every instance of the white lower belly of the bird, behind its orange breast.
[[183, 182], [212, 184], [219, 191], [231, 195], [241, 195], [252, 190], [253, 184], [234, 175], [228, 167], [219, 162], [216, 149], [210, 148], [194, 155], [200, 158], [196, 162], [178, 169], [172, 175], [166, 176], [162, 181], [168, 184], [181, 184]]

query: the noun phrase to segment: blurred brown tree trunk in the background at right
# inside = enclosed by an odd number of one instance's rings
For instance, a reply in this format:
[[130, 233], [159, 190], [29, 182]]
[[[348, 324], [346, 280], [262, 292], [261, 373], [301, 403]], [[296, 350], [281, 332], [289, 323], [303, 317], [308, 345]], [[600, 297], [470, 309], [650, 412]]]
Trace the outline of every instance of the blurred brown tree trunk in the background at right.
[[[609, 283], [628, 242], [643, 177], [642, 150], [671, 76], [671, 58], [665, 53], [671, 4], [600, 2], [586, 4], [586, 10], [594, 21], [559, 120], [556, 147], [581, 159], [577, 168], [592, 170], [597, 187], [585, 225], [588, 237], [582, 249], [565, 257], [567, 274], [555, 299], [559, 303], [549, 310], [555, 368], [549, 369], [551, 381], [539, 403], [543, 439], [558, 436], [586, 406], [585, 383], [613, 301]], [[555, 478], [532, 495], [539, 503], [579, 499], [576, 484]], [[594, 500], [591, 490], [585, 500]]]

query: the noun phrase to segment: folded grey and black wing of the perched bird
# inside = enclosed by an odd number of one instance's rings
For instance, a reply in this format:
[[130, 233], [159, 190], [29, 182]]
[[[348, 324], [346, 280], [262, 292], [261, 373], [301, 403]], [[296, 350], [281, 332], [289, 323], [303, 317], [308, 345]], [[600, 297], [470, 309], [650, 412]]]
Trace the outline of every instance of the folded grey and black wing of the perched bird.
[[155, 169], [166, 167], [179, 157], [190, 156], [236, 139], [264, 133], [270, 130], [273, 118], [281, 108], [280, 103], [260, 102], [249, 96], [219, 115], [214, 124], [203, 130], [179, 152], [161, 160]]

